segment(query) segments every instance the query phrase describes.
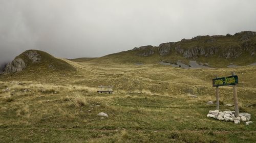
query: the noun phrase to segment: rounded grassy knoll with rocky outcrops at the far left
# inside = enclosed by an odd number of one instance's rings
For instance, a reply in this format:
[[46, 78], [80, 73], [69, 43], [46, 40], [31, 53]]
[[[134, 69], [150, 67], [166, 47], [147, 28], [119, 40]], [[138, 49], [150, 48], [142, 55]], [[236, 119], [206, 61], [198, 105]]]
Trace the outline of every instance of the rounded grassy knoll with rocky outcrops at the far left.
[[16, 56], [11, 63], [7, 64], [2, 78], [39, 78], [51, 74], [60, 75], [73, 73], [75, 71], [75, 67], [61, 59], [55, 58], [47, 52], [26, 50]]

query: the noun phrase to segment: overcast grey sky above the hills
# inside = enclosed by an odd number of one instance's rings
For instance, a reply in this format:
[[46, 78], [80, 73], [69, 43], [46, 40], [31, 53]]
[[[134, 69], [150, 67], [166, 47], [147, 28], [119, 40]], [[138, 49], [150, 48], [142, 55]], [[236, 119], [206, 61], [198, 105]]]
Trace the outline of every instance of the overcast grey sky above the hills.
[[256, 31], [256, 1], [0, 0], [0, 63], [27, 49], [97, 57], [241, 31]]

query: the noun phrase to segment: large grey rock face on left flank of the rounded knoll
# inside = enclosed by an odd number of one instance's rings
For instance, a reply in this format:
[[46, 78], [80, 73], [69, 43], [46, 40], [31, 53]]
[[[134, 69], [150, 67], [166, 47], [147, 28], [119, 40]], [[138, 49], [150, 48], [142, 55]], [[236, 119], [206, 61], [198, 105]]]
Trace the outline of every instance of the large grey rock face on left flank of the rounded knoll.
[[11, 63], [7, 64], [4, 74], [15, 73], [26, 68], [23, 59], [15, 58]]

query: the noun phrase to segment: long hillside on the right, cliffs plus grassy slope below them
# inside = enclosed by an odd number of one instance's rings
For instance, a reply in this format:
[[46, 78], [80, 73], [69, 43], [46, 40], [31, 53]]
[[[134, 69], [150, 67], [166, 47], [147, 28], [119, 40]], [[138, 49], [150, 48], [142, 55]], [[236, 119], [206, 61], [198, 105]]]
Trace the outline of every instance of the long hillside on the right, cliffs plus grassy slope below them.
[[245, 66], [256, 63], [256, 32], [240, 32], [233, 36], [197, 36], [159, 46], [141, 46], [95, 59], [97, 62], [115, 60], [126, 64], [159, 64], [159, 62], [189, 61], [210, 67]]

